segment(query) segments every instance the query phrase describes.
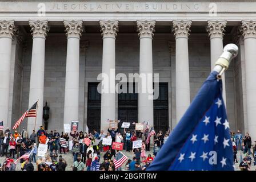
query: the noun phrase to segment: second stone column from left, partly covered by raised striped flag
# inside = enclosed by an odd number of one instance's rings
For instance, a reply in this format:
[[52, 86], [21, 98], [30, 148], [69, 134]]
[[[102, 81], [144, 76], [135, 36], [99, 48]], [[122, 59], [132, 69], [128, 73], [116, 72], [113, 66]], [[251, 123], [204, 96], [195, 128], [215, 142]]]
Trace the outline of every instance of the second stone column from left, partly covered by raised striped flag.
[[31, 58], [31, 73], [30, 73], [30, 89], [29, 89], [29, 107], [33, 106], [38, 100], [37, 108], [37, 123], [35, 118], [28, 118], [27, 131], [29, 134], [32, 131], [38, 130], [43, 121], [43, 83], [45, 79], [45, 39], [49, 26], [47, 20], [30, 20], [33, 36], [33, 48]]

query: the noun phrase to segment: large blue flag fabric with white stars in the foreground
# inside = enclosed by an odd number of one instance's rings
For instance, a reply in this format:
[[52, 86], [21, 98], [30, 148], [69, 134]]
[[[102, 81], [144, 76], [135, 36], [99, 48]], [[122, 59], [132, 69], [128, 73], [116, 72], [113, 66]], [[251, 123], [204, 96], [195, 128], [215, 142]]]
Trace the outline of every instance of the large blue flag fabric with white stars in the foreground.
[[222, 81], [217, 75], [210, 73], [148, 171], [234, 170]]

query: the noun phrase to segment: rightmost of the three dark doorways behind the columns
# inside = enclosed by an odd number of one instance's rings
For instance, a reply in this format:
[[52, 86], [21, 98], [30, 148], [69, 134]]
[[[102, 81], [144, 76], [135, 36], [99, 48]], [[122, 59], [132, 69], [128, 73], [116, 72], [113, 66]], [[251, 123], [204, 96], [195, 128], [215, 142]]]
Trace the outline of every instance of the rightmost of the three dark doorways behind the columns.
[[159, 132], [169, 129], [168, 83], [159, 82], [159, 97], [154, 100], [154, 130]]

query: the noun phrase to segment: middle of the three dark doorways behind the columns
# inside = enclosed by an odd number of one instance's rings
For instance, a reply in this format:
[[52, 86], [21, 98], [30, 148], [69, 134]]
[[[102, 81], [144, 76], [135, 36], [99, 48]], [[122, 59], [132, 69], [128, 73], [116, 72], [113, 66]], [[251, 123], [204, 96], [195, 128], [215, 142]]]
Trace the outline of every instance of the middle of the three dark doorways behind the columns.
[[121, 132], [123, 132], [123, 129], [121, 128], [122, 122], [131, 123], [129, 128], [130, 131], [135, 130], [135, 125], [132, 123], [138, 122], [138, 94], [135, 93], [135, 84], [133, 84], [133, 93], [129, 93], [128, 91], [129, 84], [127, 83], [127, 93], [118, 94], [118, 119], [121, 120], [118, 124], [118, 128]]

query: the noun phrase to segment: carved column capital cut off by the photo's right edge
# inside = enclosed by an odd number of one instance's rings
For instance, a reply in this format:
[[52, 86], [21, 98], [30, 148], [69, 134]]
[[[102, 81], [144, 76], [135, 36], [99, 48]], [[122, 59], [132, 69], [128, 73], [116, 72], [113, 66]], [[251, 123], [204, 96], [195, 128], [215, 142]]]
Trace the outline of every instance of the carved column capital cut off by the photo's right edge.
[[243, 20], [241, 23], [241, 32], [243, 38], [256, 38], [256, 21], [253, 20]]

